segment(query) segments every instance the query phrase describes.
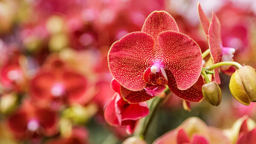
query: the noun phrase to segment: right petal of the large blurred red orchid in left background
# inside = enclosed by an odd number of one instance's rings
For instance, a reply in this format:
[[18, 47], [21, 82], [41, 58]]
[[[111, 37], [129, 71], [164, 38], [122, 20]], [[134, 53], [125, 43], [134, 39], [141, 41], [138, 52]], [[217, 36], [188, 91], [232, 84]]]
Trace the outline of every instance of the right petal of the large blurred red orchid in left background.
[[76, 72], [64, 72], [62, 79], [65, 84], [68, 98], [77, 100], [86, 96], [84, 94], [87, 91], [87, 80], [84, 76]]

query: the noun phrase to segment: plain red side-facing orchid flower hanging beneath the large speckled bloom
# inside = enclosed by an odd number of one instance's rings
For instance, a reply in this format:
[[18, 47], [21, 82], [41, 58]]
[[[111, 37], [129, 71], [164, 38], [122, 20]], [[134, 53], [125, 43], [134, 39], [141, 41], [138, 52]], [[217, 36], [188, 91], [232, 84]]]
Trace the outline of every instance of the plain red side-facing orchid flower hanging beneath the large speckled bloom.
[[146, 102], [138, 104], [129, 104], [120, 96], [120, 84], [113, 79], [112, 89], [116, 92], [111, 101], [106, 105], [104, 117], [111, 126], [127, 126], [126, 131], [133, 133], [135, 125], [140, 118], [149, 114]]

